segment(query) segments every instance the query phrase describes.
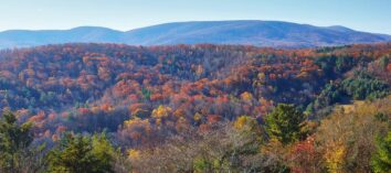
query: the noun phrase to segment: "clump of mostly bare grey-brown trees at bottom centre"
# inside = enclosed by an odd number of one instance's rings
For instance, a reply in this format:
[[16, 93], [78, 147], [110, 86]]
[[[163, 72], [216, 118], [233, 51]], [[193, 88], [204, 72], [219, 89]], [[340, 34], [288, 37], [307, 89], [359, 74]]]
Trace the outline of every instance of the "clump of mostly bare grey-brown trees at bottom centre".
[[254, 118], [212, 128], [176, 136], [154, 149], [130, 150], [134, 172], [289, 172], [276, 155], [260, 152], [263, 130]]

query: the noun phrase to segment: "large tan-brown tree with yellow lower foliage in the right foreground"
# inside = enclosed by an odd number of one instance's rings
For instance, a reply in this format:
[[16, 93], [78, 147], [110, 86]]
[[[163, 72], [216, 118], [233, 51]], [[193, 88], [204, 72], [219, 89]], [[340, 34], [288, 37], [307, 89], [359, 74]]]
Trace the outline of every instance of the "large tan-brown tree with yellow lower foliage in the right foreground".
[[[374, 137], [384, 137], [391, 113], [389, 98], [376, 102], [356, 102], [336, 107], [315, 132], [316, 149], [328, 172], [371, 172], [371, 158], [377, 151]], [[344, 108], [344, 109], [342, 109]], [[350, 111], [347, 111], [350, 108]], [[381, 113], [380, 113], [381, 112]]]

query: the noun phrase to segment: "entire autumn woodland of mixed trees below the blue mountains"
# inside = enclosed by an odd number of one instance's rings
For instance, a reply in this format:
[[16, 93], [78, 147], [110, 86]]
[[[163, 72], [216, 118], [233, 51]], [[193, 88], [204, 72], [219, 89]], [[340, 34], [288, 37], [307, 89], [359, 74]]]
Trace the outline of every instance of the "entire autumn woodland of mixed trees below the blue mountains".
[[0, 172], [388, 172], [391, 44], [0, 52]]

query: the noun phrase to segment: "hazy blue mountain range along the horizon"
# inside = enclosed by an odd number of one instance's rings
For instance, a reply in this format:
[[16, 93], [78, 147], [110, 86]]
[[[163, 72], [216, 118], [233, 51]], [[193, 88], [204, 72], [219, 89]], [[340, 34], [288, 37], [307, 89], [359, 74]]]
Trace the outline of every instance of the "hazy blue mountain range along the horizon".
[[124, 43], [131, 45], [249, 44], [272, 47], [314, 47], [391, 42], [391, 35], [345, 26], [314, 26], [279, 21], [200, 21], [152, 25], [126, 32], [81, 26], [71, 30], [0, 32], [0, 48], [62, 43]]

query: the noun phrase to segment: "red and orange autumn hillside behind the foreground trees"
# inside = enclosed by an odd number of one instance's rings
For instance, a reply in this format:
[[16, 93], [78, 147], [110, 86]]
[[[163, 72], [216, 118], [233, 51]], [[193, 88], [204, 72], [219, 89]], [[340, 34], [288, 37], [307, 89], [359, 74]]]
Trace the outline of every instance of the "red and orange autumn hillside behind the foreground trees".
[[[190, 125], [208, 123], [213, 117], [260, 118], [277, 102], [317, 112], [347, 98], [387, 95], [390, 47], [65, 44], [2, 51], [0, 108], [27, 118], [43, 113], [46, 128], [63, 125], [91, 132], [115, 131], [131, 117], [154, 119], [154, 110], [160, 108]], [[202, 121], [194, 121], [196, 113], [204, 117]], [[44, 118], [60, 115], [68, 118]]]

